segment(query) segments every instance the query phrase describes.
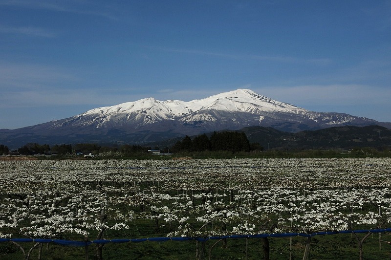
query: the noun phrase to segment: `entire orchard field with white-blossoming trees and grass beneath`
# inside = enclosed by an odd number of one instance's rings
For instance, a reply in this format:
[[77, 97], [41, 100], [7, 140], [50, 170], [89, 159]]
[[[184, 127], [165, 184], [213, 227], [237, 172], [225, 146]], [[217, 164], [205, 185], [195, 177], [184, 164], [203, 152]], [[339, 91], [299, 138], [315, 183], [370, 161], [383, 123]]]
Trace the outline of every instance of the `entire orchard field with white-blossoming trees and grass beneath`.
[[388, 232], [275, 236], [391, 227], [391, 158], [0, 161], [0, 178], [0, 238], [133, 239], [4, 240], [1, 259], [391, 256]]

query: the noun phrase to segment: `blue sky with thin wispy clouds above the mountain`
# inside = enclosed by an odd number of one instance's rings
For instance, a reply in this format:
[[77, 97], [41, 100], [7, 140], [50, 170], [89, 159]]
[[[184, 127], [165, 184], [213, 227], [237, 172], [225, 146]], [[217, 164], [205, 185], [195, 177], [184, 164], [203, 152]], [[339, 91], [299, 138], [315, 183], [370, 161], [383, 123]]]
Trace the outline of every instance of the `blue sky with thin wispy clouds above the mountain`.
[[390, 0], [0, 0], [0, 129], [238, 88], [391, 122]]

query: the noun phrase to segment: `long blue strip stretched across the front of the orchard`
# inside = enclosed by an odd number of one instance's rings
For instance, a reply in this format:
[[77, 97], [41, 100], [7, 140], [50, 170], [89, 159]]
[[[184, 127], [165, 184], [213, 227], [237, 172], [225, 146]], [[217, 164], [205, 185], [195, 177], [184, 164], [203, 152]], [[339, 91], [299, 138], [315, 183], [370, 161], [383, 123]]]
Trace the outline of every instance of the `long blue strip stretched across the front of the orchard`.
[[314, 237], [317, 235], [336, 235], [336, 234], [349, 234], [349, 233], [383, 233], [383, 232], [391, 232], [391, 228], [385, 229], [359, 229], [359, 230], [342, 230], [342, 231], [324, 231], [317, 232], [312, 234], [305, 233], [281, 233], [281, 234], [256, 234], [256, 235], [231, 235], [231, 236], [214, 236], [214, 237], [206, 237], [206, 238], [195, 238], [195, 237], [178, 237], [178, 238], [135, 238], [135, 239], [97, 239], [92, 241], [73, 241], [73, 240], [63, 240], [63, 239], [43, 239], [43, 238], [0, 238], [0, 242], [9, 242], [13, 241], [16, 243], [22, 242], [36, 242], [36, 243], [57, 243], [66, 246], [87, 246], [92, 243], [94, 244], [107, 244], [107, 243], [127, 243], [127, 242], [144, 242], [144, 241], [188, 241], [188, 240], [197, 240], [200, 242], [207, 241], [209, 239], [225, 239], [225, 238], [288, 238], [288, 237]]

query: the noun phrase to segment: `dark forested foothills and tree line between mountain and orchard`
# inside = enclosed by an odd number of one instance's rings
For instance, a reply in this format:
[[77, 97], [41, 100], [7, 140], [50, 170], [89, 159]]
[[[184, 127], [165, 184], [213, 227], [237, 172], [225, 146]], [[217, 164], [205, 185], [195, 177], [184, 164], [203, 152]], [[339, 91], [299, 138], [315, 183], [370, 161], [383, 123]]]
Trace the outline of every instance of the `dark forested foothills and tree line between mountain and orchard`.
[[[56, 155], [56, 158], [83, 157], [93, 153], [98, 158], [154, 158], [160, 151], [164, 158], [235, 158], [235, 157], [388, 157], [391, 156], [391, 130], [380, 126], [334, 127], [315, 131], [288, 133], [264, 127], [238, 131], [215, 131], [196, 136], [170, 139], [150, 144], [37, 144], [19, 149], [0, 146], [0, 154]], [[49, 156], [46, 156], [49, 157]]]

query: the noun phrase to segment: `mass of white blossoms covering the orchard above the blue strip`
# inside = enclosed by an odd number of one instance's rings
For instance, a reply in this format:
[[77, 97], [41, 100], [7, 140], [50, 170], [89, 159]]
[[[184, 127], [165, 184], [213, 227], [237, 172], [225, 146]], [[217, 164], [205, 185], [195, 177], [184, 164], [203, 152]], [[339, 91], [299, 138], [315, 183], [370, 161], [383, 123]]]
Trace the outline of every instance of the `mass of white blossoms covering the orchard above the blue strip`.
[[0, 174], [1, 238], [104, 239], [132, 221], [171, 237], [391, 222], [389, 158], [0, 161]]

